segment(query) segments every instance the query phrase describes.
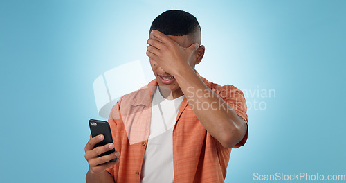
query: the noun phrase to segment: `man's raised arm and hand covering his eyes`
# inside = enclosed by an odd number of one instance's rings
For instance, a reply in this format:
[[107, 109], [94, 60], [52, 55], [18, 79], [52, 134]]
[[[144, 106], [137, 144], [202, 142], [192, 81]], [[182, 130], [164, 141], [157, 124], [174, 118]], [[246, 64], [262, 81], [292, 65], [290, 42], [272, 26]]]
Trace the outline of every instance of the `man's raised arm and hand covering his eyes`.
[[[246, 121], [220, 96], [212, 92], [189, 64], [199, 56], [199, 44], [183, 48], [161, 32], [153, 30], [151, 35], [147, 55], [176, 78], [203, 127], [224, 148], [231, 148], [239, 143], [247, 132]], [[208, 103], [209, 107], [201, 106], [203, 103]]]

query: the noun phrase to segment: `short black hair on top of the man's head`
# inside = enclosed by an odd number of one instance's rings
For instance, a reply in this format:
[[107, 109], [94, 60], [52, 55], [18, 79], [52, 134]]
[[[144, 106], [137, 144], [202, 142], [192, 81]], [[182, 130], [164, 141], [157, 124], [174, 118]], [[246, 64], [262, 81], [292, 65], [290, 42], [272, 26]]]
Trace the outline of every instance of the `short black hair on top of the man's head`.
[[201, 33], [201, 27], [196, 17], [182, 10], [167, 10], [161, 13], [152, 22], [149, 32], [152, 30], [173, 36], [189, 35], [196, 31]]

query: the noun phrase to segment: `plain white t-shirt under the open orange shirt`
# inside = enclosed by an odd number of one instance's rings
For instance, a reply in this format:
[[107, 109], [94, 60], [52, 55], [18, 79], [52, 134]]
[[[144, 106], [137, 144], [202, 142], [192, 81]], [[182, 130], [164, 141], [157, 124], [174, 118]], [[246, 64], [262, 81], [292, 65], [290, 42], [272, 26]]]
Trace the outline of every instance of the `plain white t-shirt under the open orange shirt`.
[[142, 183], [174, 182], [173, 128], [184, 96], [167, 100], [158, 87], [152, 99], [152, 121], [143, 158]]

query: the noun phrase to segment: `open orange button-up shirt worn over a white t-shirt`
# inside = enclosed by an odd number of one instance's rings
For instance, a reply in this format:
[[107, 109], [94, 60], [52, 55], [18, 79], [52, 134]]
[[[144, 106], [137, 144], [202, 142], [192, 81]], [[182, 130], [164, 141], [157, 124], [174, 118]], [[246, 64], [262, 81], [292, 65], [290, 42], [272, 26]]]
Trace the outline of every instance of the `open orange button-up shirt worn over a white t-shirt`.
[[[221, 87], [199, 77], [248, 122], [242, 91], [233, 85]], [[152, 115], [152, 94], [156, 85], [156, 80], [152, 80], [138, 91], [122, 96], [111, 110], [108, 122], [113, 143], [120, 152], [120, 162], [107, 171], [117, 183], [141, 180]], [[248, 132], [233, 148], [243, 146], [247, 137]], [[224, 148], [206, 131], [184, 98], [173, 129], [174, 182], [224, 182], [231, 149]]]

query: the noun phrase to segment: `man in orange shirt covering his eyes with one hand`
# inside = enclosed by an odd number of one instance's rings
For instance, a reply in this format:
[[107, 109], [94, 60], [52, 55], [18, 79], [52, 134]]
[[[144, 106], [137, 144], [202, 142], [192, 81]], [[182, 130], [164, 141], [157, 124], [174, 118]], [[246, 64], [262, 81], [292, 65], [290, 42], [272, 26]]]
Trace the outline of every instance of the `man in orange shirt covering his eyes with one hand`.
[[[147, 43], [156, 79], [113, 106], [114, 144], [93, 149], [102, 135], [86, 144], [86, 182], [224, 182], [231, 148], [247, 139], [243, 93], [194, 70], [205, 47], [188, 12], [156, 17]], [[113, 148], [116, 153], [98, 157]]]

